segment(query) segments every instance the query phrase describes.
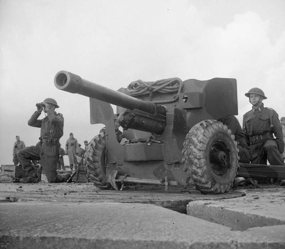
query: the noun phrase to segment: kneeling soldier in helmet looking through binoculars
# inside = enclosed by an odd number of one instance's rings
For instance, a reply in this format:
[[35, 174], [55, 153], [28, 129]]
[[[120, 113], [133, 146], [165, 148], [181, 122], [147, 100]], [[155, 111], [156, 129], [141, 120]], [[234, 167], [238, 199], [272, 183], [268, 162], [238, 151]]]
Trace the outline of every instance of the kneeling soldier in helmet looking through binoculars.
[[[46, 98], [42, 103], [36, 104], [37, 110], [28, 120], [28, 125], [40, 128], [40, 142], [36, 146], [26, 147], [17, 152], [23, 170], [28, 172], [22, 183], [37, 183], [38, 176], [31, 160], [40, 160], [48, 182], [65, 182], [70, 178], [70, 173], [57, 174], [56, 163], [59, 157], [59, 139], [63, 135], [64, 118], [62, 114], [56, 113], [59, 108], [56, 101]], [[47, 114], [43, 119], [37, 119], [42, 110]]]

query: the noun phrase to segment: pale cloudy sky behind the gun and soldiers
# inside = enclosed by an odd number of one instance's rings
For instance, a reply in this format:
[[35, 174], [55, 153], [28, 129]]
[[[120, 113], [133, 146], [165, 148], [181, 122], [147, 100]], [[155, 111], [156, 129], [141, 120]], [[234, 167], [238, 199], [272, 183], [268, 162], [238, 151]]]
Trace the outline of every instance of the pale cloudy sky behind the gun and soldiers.
[[15, 135], [36, 144], [40, 129], [27, 121], [48, 97], [65, 118], [63, 145], [70, 132], [81, 144], [98, 133], [89, 99], [54, 86], [60, 70], [115, 90], [137, 79], [235, 78], [240, 122], [252, 87], [285, 116], [284, 13], [284, 0], [0, 0], [1, 164], [13, 164]]

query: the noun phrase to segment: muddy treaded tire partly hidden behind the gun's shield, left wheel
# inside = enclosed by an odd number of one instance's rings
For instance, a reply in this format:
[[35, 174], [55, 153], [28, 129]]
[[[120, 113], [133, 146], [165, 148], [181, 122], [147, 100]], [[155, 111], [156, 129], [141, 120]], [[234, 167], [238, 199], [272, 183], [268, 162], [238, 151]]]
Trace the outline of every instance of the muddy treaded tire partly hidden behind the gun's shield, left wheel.
[[90, 182], [100, 189], [111, 189], [112, 186], [106, 182], [106, 137], [103, 132], [91, 139], [87, 145], [84, 162], [87, 166], [87, 175]]

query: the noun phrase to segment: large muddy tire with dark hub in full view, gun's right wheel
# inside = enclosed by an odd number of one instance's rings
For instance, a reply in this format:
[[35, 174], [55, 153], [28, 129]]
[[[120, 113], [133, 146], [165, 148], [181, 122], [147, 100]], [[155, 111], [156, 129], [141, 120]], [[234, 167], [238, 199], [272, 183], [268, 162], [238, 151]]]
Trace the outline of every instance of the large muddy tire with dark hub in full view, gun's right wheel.
[[[215, 174], [210, 161], [212, 145], [225, 145], [229, 167], [221, 175]], [[182, 149], [184, 169], [196, 189], [203, 194], [222, 194], [233, 186], [238, 168], [238, 149], [231, 130], [216, 120], [204, 120], [194, 125], [185, 137]]]

